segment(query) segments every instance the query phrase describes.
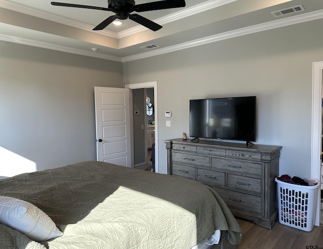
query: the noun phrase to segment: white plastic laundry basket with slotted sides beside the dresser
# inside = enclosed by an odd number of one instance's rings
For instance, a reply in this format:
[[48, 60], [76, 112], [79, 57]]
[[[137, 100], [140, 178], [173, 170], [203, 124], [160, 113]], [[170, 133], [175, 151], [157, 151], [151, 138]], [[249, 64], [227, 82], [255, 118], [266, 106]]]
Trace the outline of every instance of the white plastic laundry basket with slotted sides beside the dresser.
[[304, 231], [311, 231], [320, 183], [303, 186], [280, 181], [277, 182], [279, 223]]

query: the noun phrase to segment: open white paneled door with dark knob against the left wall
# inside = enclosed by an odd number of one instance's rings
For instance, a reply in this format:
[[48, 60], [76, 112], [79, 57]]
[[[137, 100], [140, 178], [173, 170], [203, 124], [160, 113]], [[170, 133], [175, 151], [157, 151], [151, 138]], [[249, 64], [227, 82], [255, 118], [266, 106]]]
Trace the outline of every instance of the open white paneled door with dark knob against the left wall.
[[97, 161], [131, 167], [129, 89], [94, 87]]

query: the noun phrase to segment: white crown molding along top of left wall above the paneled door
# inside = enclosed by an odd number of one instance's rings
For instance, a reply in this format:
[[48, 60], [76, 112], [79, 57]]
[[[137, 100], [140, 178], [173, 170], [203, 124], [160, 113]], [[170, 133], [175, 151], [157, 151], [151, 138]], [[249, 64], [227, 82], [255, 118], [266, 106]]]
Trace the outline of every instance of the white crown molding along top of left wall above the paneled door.
[[57, 51], [61, 51], [61, 52], [75, 53], [75, 54], [80, 54], [80, 55], [86, 55], [86, 56], [91, 56], [91, 57], [96, 57], [96, 58], [101, 58], [101, 59], [108, 59], [108, 60], [122, 62], [122, 58], [118, 57], [118, 56], [96, 53], [93, 51], [86, 51], [83, 49], [76, 49], [76, 48], [72, 48], [72, 47], [60, 46], [60, 45], [55, 45], [55, 44], [49, 44], [49, 43], [45, 43], [45, 42], [41, 42], [41, 41], [29, 40], [29, 39], [25, 39], [25, 38], [9, 36], [9, 35], [4, 35], [4, 34], [0, 34], [0, 40], [19, 43], [19, 44], [23, 44], [23, 45], [34, 46], [34, 47], [47, 48], [47, 49], [57, 50]]

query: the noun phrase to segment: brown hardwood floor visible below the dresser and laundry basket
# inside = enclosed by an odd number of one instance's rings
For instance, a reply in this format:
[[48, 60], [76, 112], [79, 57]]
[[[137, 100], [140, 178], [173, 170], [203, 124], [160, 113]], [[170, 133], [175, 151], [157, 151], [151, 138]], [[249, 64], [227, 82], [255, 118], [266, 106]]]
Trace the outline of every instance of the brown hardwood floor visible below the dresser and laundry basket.
[[322, 225], [314, 226], [312, 231], [305, 232], [283, 225], [277, 220], [273, 229], [268, 230], [257, 226], [252, 221], [236, 219], [243, 231], [238, 249], [323, 249]]

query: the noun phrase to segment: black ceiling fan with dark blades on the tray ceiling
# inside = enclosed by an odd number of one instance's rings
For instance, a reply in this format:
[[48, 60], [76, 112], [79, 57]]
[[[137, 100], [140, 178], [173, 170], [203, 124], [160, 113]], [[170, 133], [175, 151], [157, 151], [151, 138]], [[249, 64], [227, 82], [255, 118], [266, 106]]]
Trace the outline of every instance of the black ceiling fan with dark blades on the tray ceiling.
[[111, 24], [116, 19], [126, 20], [130, 19], [145, 26], [152, 31], [157, 31], [163, 26], [150, 21], [147, 18], [144, 18], [138, 14], [130, 14], [132, 12], [144, 12], [144, 11], [155, 11], [155, 10], [165, 10], [165, 9], [173, 9], [179, 7], [185, 7], [185, 0], [163, 0], [156, 1], [146, 4], [136, 5], [134, 0], [107, 0], [107, 8], [103, 7], [95, 7], [95, 6], [87, 6], [87, 5], [76, 5], [76, 4], [66, 4], [66, 3], [58, 3], [51, 2], [51, 5], [55, 6], [64, 6], [64, 7], [74, 7], [74, 8], [83, 8], [83, 9], [92, 9], [92, 10], [101, 10], [101, 11], [112, 11], [116, 13], [114, 16], [110, 16], [106, 18], [103, 22], [97, 25], [93, 30], [102, 30], [107, 25]]

